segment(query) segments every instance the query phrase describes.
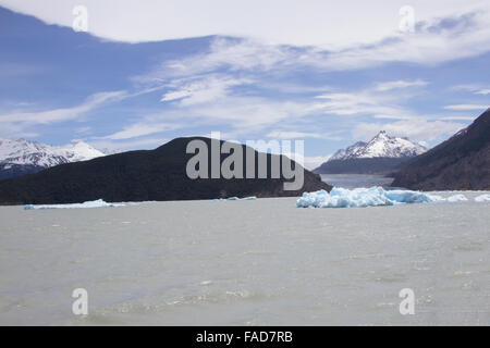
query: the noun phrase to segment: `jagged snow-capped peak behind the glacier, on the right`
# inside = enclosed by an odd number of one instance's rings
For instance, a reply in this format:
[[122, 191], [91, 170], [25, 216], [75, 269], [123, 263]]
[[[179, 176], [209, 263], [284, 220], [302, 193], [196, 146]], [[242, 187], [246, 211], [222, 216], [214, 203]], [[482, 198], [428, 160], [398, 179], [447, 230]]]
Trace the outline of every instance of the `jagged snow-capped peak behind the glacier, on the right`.
[[368, 142], [358, 141], [346, 149], [336, 151], [329, 161], [372, 158], [409, 158], [424, 153], [427, 149], [407, 138], [391, 137], [381, 130]]

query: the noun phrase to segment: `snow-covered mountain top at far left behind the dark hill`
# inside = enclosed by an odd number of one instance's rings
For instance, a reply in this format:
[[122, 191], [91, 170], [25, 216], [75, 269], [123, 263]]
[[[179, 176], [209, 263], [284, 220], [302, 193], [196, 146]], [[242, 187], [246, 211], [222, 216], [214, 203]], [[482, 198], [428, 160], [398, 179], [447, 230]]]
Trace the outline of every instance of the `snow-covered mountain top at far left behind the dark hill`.
[[86, 142], [50, 146], [25, 139], [0, 139], [0, 163], [49, 167], [105, 156]]

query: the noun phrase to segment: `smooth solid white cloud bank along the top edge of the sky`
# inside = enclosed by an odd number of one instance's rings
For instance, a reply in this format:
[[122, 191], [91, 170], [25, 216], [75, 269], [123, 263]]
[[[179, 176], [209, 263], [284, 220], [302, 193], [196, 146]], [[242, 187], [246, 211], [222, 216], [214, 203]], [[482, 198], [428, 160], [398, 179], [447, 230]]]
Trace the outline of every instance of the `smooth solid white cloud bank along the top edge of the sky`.
[[[9, 9], [50, 24], [72, 26], [78, 0], [1, 0]], [[208, 35], [260, 38], [299, 46], [346, 47], [373, 42], [399, 30], [405, 0], [84, 0], [91, 34], [128, 42]], [[476, 9], [482, 0], [412, 0], [416, 21], [429, 21]], [[355, 24], [355, 25], [353, 25]]]

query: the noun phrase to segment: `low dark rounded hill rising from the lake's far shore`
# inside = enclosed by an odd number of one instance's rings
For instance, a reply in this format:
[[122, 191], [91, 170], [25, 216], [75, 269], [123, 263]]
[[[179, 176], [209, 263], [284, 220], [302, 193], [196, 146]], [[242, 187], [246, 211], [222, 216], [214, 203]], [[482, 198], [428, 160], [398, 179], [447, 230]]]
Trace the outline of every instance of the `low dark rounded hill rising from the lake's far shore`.
[[[287, 179], [282, 175], [282, 170], [280, 178], [270, 178], [270, 163], [277, 157], [270, 153], [267, 154], [268, 178], [257, 178], [257, 151], [254, 151], [256, 178], [191, 179], [186, 175], [186, 164], [195, 154], [186, 153], [186, 147], [194, 139], [205, 141], [210, 148], [209, 138], [176, 138], [155, 150], [130, 151], [66, 163], [36, 174], [1, 181], [0, 203], [73, 203], [99, 198], [106, 201], [146, 201], [233, 196], [287, 197], [299, 196], [303, 191], [331, 189], [330, 185], [321, 182], [319, 175], [305, 170], [303, 187], [298, 190], [284, 190], [283, 184]], [[245, 173], [247, 147], [241, 146]], [[221, 154], [221, 162], [228, 156]], [[209, 161], [210, 157], [209, 151]], [[280, 158], [281, 161], [284, 159]]]

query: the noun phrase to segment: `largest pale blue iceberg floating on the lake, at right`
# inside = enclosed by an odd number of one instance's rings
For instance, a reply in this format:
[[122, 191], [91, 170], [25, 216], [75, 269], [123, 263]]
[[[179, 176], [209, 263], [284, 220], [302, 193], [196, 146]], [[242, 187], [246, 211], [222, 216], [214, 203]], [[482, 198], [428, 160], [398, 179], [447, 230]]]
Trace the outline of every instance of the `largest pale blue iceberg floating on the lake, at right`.
[[304, 192], [303, 197], [296, 201], [296, 207], [353, 208], [393, 206], [396, 203], [421, 203], [440, 200], [443, 200], [443, 198], [412, 190], [384, 190], [382, 187], [355, 189], [334, 187], [330, 194], [326, 190]]

